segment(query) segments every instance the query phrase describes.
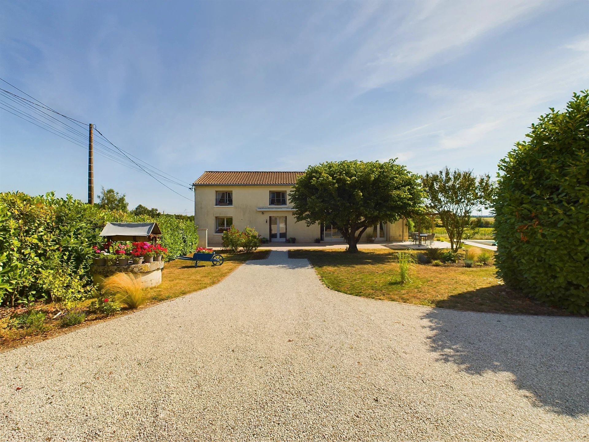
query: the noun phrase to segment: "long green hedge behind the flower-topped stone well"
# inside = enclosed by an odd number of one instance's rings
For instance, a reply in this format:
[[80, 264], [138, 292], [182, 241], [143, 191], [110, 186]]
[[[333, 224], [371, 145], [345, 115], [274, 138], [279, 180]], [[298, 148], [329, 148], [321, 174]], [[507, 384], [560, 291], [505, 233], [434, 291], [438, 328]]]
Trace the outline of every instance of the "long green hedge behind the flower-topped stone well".
[[47, 299], [42, 275], [53, 271], [56, 262], [72, 274], [81, 269], [83, 283], [90, 284], [91, 248], [103, 242], [101, 226], [109, 221], [157, 222], [168, 260], [193, 252], [198, 244], [190, 220], [108, 212], [69, 195], [0, 193], [0, 304]]

